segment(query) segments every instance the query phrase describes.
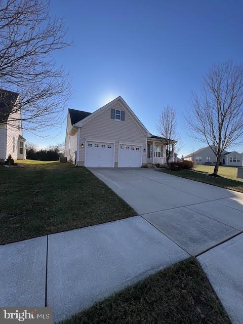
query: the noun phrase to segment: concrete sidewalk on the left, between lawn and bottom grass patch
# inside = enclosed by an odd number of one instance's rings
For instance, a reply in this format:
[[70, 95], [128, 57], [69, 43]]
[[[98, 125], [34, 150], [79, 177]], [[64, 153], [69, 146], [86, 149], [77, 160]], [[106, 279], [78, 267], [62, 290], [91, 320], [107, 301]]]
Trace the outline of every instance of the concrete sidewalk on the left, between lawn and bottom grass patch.
[[0, 305], [59, 321], [188, 257], [140, 216], [0, 246]]

